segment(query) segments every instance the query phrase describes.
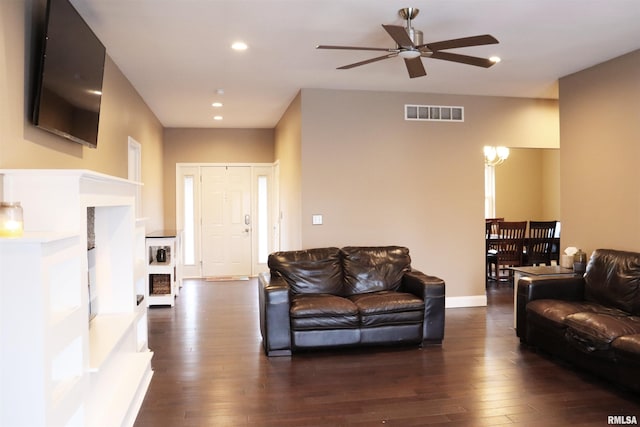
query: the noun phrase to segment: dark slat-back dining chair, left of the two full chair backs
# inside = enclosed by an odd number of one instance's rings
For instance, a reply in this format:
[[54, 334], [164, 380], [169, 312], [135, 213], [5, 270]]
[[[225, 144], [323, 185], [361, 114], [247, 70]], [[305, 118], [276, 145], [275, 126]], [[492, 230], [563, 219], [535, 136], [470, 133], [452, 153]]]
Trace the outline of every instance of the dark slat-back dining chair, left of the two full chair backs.
[[[513, 271], [508, 267], [523, 265], [522, 255], [526, 231], [527, 221], [500, 221], [498, 223], [497, 237], [491, 239], [491, 246], [495, 253], [487, 256], [489, 271], [491, 271], [492, 265], [495, 266], [496, 274], [491, 277], [493, 280], [513, 280]], [[507, 271], [507, 274], [501, 275], [500, 273], [503, 271]]]

